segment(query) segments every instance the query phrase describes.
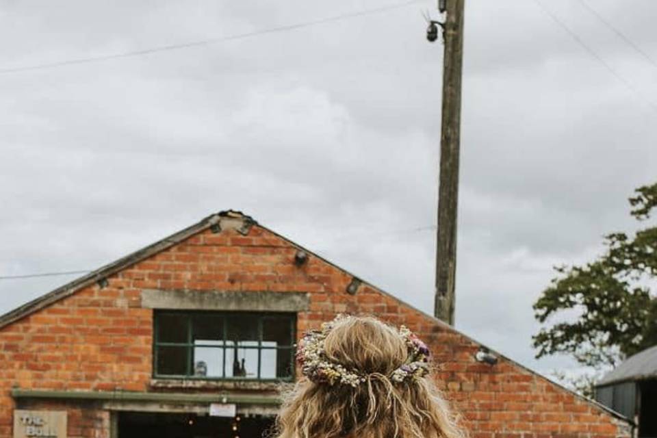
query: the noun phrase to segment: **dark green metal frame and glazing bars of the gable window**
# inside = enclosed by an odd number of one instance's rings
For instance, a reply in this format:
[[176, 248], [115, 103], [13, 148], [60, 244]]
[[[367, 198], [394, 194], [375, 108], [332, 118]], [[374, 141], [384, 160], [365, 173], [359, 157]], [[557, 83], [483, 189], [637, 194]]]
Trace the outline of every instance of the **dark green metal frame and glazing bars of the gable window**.
[[[160, 342], [159, 340], [159, 324], [162, 315], [179, 315], [185, 318], [185, 329], [187, 330], [187, 342]], [[203, 345], [194, 344], [193, 342], [193, 326], [194, 317], [212, 315], [221, 318], [222, 328], [222, 343], [221, 345]], [[229, 377], [226, 376], [226, 352], [236, 348], [230, 346], [227, 339], [229, 318], [238, 316], [240, 318], [256, 318], [257, 327], [257, 346], [240, 346], [242, 349], [257, 350], [257, 373], [255, 377]], [[268, 347], [263, 346], [264, 326], [263, 322], [267, 319], [281, 319], [287, 320], [289, 324], [289, 334], [291, 339], [290, 345]], [[226, 381], [226, 382], [289, 382], [294, 381], [295, 367], [294, 367], [294, 352], [296, 350], [296, 320], [297, 315], [294, 312], [268, 312], [268, 311], [190, 311], [190, 310], [173, 310], [173, 309], [155, 309], [153, 311], [153, 378], [159, 379], [177, 379], [189, 381]], [[160, 347], [181, 347], [185, 348], [185, 374], [160, 374], [159, 370], [159, 348]], [[216, 348], [222, 350], [222, 376], [194, 376], [193, 375], [193, 351], [194, 348]], [[289, 375], [276, 378], [261, 378], [261, 361], [262, 350], [276, 350], [284, 352], [288, 351], [289, 363], [291, 364]], [[277, 368], [277, 364], [276, 364]]]

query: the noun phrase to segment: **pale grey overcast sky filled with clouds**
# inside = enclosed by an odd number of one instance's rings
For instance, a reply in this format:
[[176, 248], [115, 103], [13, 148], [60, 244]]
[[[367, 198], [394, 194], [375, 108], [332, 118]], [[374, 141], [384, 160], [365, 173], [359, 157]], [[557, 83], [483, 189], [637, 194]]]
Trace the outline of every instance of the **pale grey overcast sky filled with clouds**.
[[[654, 0], [467, 0], [456, 326], [541, 372], [555, 263], [632, 229], [657, 169]], [[394, 0], [0, 0], [0, 69], [222, 38]], [[434, 1], [0, 73], [0, 275], [88, 270], [238, 209], [433, 311]], [[566, 27], [574, 34], [569, 34]], [[578, 42], [579, 40], [579, 42]], [[582, 47], [586, 46], [586, 48]], [[75, 276], [0, 280], [0, 313]]]

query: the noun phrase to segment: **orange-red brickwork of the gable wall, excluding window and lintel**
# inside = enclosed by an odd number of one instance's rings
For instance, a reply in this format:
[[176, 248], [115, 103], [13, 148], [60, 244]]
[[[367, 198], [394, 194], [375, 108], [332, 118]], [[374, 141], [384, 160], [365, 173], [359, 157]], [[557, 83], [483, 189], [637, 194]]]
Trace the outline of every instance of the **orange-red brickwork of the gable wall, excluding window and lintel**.
[[[475, 438], [627, 436], [623, 423], [595, 404], [504, 358], [492, 367], [476, 362], [479, 346], [464, 335], [365, 283], [349, 295], [349, 274], [316, 257], [297, 267], [295, 253], [259, 226], [246, 236], [203, 231], [110, 276], [107, 287], [85, 287], [0, 329], [0, 438], [12, 436], [14, 385], [149, 391], [153, 321], [141, 308], [142, 289], [311, 292], [299, 333], [335, 313], [372, 313], [425, 339], [440, 364], [439, 385]], [[92, 436], [75, 409], [69, 437]]]

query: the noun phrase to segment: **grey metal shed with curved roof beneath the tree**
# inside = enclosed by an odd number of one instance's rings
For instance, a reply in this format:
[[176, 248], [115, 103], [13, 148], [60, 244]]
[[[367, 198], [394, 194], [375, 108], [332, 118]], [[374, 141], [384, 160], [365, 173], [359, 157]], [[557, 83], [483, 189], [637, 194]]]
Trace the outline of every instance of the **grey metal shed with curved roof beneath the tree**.
[[657, 346], [628, 358], [595, 385], [595, 399], [639, 425], [639, 438], [657, 438]]

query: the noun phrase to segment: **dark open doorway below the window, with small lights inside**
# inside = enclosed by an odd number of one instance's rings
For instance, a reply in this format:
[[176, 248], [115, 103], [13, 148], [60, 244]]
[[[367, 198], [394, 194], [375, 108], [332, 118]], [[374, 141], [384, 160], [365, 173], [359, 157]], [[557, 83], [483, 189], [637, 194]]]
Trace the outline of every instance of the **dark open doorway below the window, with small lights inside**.
[[263, 438], [271, 435], [274, 417], [122, 412], [118, 438]]

